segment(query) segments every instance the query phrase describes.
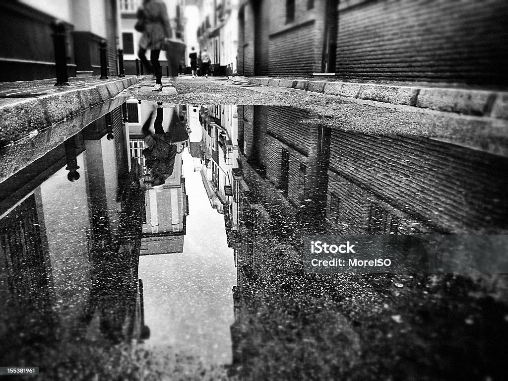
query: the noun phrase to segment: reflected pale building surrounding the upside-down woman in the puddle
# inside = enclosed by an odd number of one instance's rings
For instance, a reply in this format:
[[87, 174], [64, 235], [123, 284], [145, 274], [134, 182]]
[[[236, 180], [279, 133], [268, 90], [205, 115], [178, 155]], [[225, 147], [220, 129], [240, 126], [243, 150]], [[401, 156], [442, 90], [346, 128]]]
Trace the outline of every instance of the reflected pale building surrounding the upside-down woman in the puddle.
[[[186, 107], [130, 100], [126, 103], [126, 108], [129, 154], [141, 168], [140, 184], [145, 195], [140, 253], [153, 255], [182, 252], [188, 199], [182, 174], [181, 152], [189, 143], [186, 123], [177, 125], [175, 121], [186, 120]], [[171, 174], [164, 184], [154, 186], [151, 169], [146, 163], [146, 151], [143, 153], [148, 148], [143, 128], [156, 134], [155, 124], [159, 120], [157, 118], [160, 119], [163, 133], [170, 137], [176, 152], [174, 161], [168, 164]], [[175, 135], [175, 131], [182, 129], [185, 131], [180, 131], [181, 137]]]

